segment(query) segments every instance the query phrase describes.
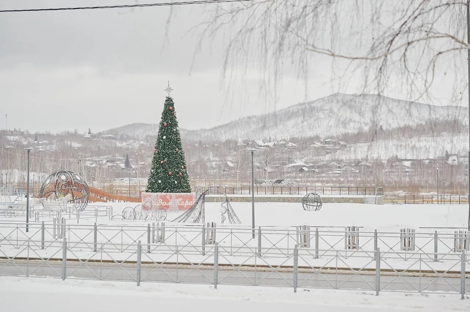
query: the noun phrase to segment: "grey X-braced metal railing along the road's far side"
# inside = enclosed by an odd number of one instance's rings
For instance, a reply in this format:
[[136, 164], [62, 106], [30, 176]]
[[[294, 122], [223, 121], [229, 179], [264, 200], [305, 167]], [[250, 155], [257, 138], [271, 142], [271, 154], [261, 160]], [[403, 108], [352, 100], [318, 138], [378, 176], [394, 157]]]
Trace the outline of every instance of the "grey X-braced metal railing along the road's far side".
[[[97, 211], [97, 210], [95, 210]], [[97, 214], [91, 211], [91, 220]], [[82, 217], [84, 212], [78, 214]], [[103, 214], [109, 211], [102, 211]], [[108, 214], [110, 216], [110, 214]], [[442, 259], [438, 253], [458, 254], [462, 249], [470, 250], [470, 232], [459, 229], [429, 231], [402, 229], [400, 232], [366, 231], [358, 227], [312, 228], [310, 226], [276, 228], [258, 227], [253, 231], [244, 226], [181, 225], [165, 222], [141, 225], [91, 225], [73, 224], [56, 216], [51, 222], [30, 223], [26, 231], [25, 223], [1, 222], [0, 245], [18, 248], [20, 241], [45, 241], [67, 238], [77, 242], [78, 247], [112, 244], [116, 251], [124, 252], [125, 246], [142, 241], [146, 244], [161, 243], [165, 246], [190, 248], [212, 246], [218, 243], [221, 248], [237, 253], [243, 248], [256, 249], [261, 256], [276, 255], [290, 257], [294, 247], [314, 251], [316, 258], [324, 256], [321, 250], [377, 250], [382, 252], [402, 251], [402, 260], [412, 260], [417, 253], [429, 256], [439, 265]], [[60, 233], [60, 235], [59, 235]], [[106, 245], [110, 246], [110, 245]]]

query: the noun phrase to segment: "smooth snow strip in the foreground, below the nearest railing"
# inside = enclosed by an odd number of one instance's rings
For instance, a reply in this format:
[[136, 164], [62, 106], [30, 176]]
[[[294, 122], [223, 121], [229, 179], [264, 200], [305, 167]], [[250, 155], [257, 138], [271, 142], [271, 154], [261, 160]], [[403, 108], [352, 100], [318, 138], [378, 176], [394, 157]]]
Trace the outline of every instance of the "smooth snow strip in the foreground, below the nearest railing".
[[31, 312], [397, 312], [469, 311], [445, 294], [380, 293], [0, 277], [1, 311]]

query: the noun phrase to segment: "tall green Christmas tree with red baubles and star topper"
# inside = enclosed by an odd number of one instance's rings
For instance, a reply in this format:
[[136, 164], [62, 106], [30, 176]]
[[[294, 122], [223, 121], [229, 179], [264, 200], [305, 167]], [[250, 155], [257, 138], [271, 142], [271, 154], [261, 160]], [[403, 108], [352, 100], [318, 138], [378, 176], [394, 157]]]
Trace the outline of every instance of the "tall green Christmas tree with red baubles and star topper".
[[150, 193], [191, 192], [175, 104], [169, 95], [171, 90], [168, 83], [168, 96], [165, 99], [147, 182], [146, 192]]

